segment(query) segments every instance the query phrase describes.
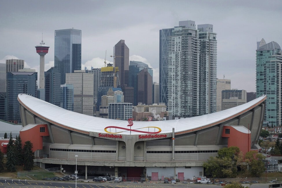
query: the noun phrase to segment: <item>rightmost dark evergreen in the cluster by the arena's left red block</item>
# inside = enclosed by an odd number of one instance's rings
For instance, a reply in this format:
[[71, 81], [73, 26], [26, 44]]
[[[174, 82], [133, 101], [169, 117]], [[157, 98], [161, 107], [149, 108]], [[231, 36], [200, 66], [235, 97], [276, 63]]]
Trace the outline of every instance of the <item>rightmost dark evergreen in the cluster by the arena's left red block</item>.
[[25, 145], [23, 146], [23, 164], [24, 170], [32, 170], [33, 169], [33, 159], [34, 153], [32, 152], [33, 145], [30, 141], [26, 141]]

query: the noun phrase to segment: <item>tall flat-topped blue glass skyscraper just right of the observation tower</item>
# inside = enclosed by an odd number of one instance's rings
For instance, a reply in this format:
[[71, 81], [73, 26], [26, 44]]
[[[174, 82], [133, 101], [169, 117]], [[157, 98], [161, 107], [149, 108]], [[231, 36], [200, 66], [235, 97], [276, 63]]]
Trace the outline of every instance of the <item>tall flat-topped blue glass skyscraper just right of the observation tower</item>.
[[81, 70], [81, 30], [55, 30], [54, 66], [61, 73], [61, 84], [66, 73]]

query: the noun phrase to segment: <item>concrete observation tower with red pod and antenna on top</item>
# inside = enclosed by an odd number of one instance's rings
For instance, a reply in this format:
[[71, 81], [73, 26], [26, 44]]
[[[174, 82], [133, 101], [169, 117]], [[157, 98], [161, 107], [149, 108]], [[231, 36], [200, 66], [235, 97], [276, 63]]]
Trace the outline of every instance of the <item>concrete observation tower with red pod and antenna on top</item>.
[[44, 57], [48, 53], [49, 46], [41, 41], [40, 45], [35, 46], [36, 53], [40, 55], [40, 71], [39, 71], [39, 89], [45, 88], [45, 77], [44, 77]]

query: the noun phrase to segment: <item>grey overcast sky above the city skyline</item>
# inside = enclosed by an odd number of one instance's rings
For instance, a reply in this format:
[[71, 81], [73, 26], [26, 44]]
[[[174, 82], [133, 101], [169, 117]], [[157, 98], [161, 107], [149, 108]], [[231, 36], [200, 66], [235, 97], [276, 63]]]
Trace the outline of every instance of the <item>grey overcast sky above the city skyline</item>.
[[[193, 20], [213, 24], [217, 33], [217, 78], [231, 79], [232, 89], [255, 92], [257, 41], [282, 46], [281, 0], [175, 0], [175, 1], [0, 1], [0, 63], [23, 59], [39, 72], [35, 46], [49, 45], [45, 71], [54, 66], [55, 30], [82, 30], [82, 68], [113, 62], [113, 47], [125, 40], [130, 60], [154, 69], [159, 82], [159, 30]], [[39, 78], [39, 77], [38, 77]]]

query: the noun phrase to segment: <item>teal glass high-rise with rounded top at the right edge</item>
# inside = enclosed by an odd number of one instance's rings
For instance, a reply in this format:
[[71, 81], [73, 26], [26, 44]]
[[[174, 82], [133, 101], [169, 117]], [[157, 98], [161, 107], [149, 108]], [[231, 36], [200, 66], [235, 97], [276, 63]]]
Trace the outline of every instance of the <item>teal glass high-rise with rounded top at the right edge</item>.
[[282, 51], [278, 43], [257, 42], [256, 95], [267, 95], [264, 126], [281, 126]]

